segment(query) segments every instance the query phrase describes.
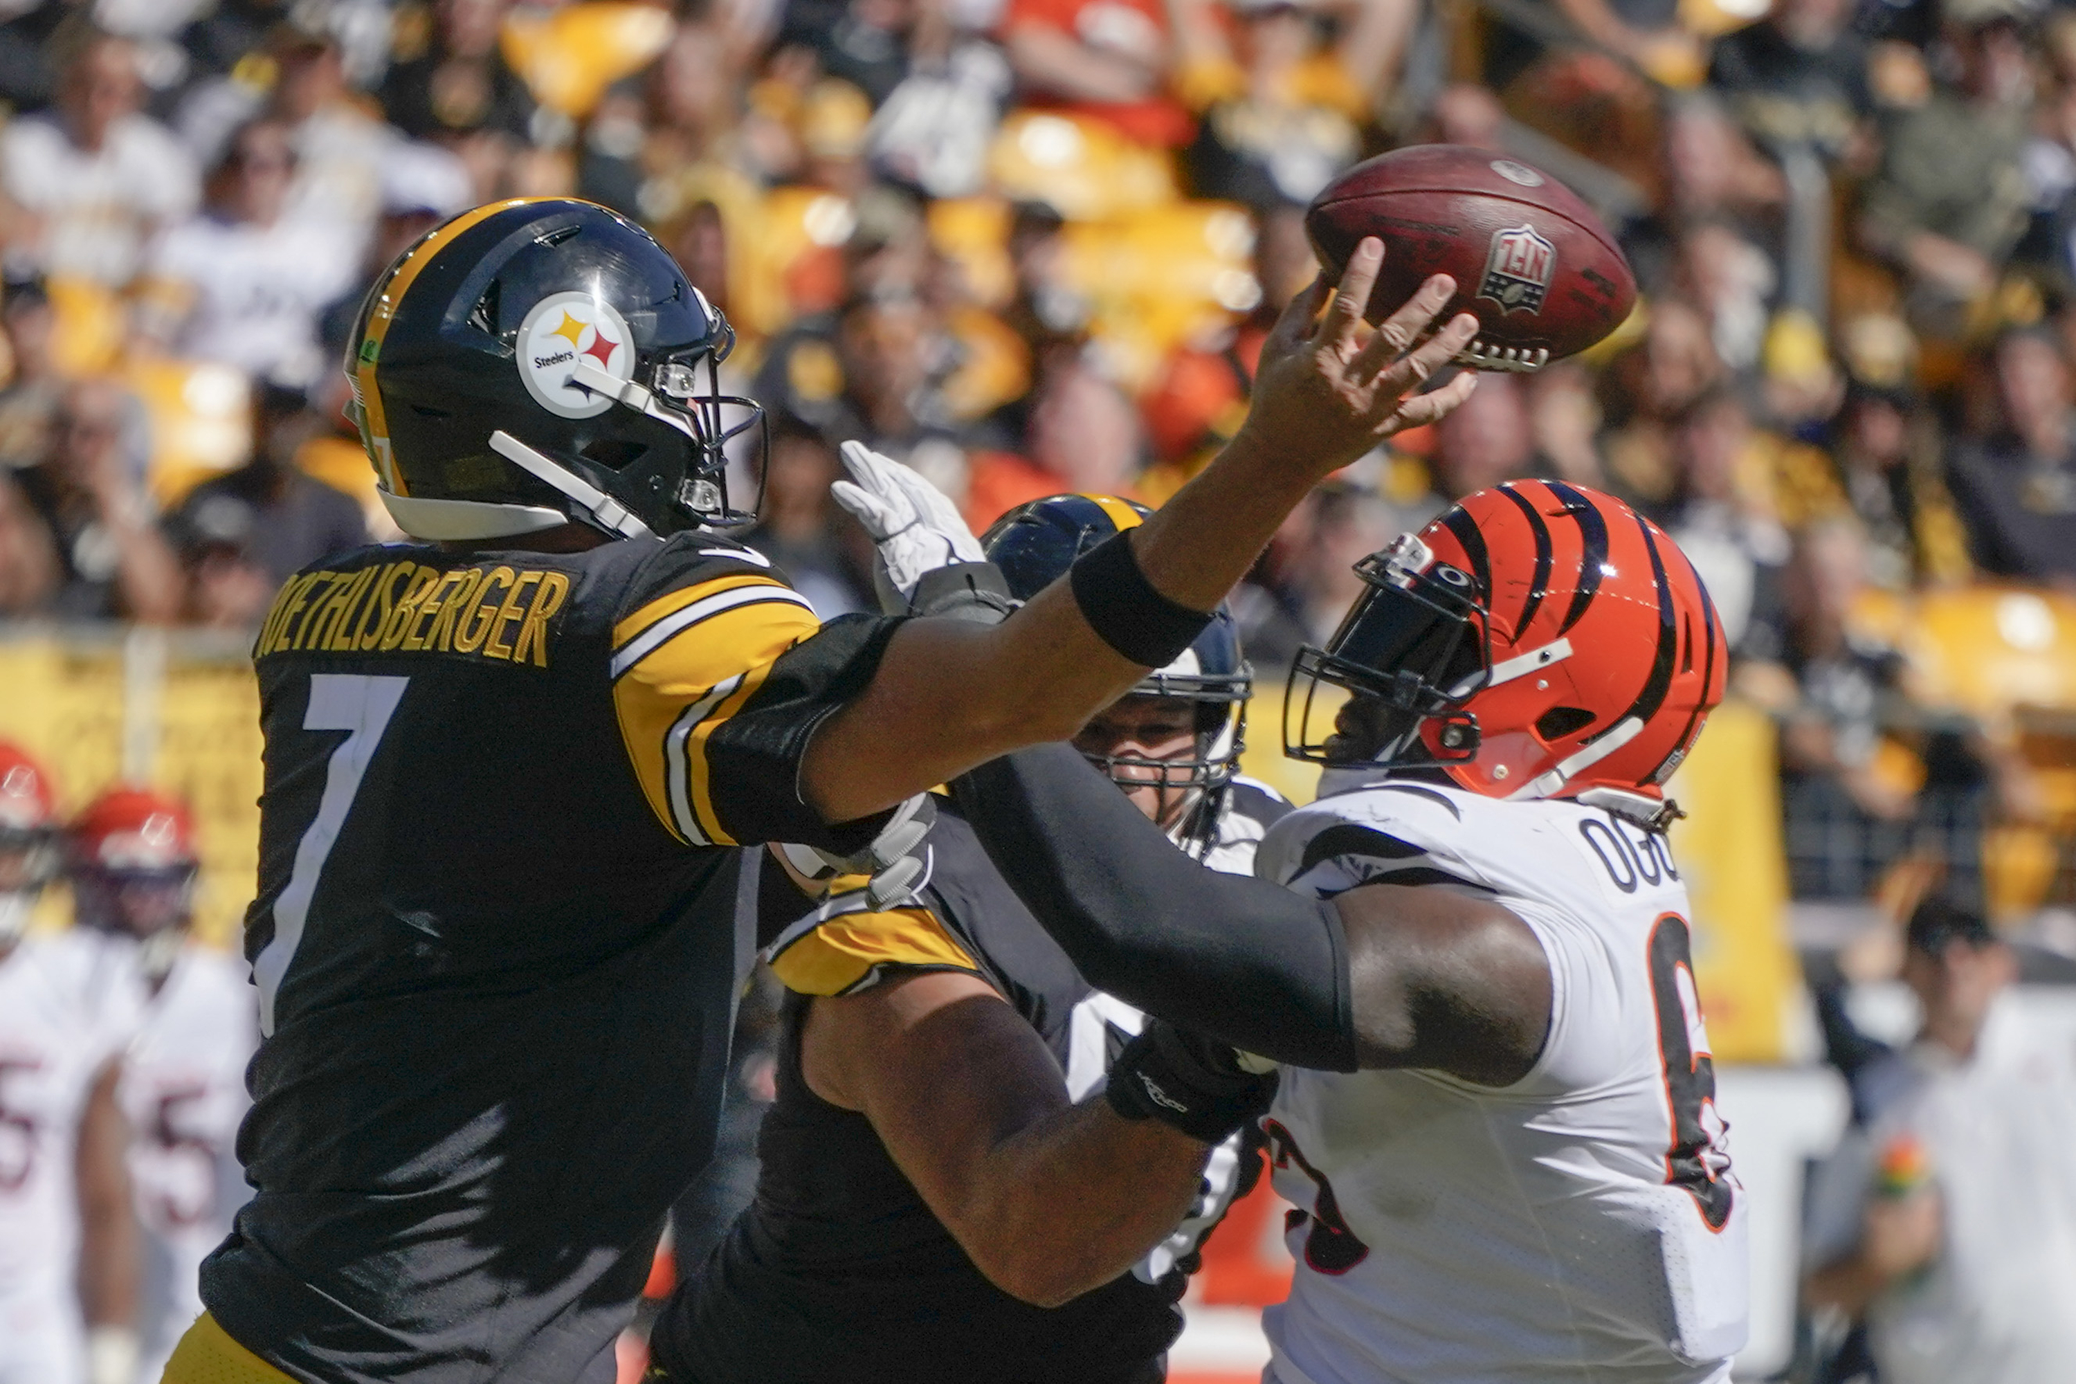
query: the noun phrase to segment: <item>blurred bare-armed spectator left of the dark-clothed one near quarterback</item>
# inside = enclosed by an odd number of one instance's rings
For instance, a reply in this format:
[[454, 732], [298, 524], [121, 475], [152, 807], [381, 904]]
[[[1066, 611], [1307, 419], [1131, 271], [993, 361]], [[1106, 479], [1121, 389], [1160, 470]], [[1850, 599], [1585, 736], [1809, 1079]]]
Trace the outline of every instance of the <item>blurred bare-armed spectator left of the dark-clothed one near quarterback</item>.
[[145, 625], [181, 614], [181, 564], [158, 533], [135, 432], [135, 400], [118, 386], [75, 384], [58, 409], [50, 459], [17, 473], [62, 571], [46, 614]]

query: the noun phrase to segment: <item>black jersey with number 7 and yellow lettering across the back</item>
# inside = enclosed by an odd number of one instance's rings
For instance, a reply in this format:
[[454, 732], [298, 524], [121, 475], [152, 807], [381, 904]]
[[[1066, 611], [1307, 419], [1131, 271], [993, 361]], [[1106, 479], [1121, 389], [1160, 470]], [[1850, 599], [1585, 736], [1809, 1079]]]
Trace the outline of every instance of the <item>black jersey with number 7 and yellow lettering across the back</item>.
[[[754, 880], [891, 620], [727, 539], [363, 548], [255, 643], [253, 1199], [212, 1316], [316, 1382], [604, 1384], [706, 1162]], [[810, 637], [812, 635], [812, 637]]]

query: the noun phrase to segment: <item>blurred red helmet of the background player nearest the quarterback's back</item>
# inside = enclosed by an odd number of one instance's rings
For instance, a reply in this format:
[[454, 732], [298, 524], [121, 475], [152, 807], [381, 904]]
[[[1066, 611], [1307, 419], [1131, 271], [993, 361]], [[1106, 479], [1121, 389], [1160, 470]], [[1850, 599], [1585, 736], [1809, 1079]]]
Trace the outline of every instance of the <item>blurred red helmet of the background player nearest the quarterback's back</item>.
[[152, 975], [172, 965], [199, 865], [187, 807], [149, 788], [110, 788], [66, 830], [77, 923], [143, 942]]

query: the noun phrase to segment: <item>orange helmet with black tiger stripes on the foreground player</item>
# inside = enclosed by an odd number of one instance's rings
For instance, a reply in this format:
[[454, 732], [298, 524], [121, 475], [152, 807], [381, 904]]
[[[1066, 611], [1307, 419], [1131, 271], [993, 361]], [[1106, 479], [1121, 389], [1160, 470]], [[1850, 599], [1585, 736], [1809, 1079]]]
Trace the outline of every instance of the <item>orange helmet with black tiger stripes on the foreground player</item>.
[[[1596, 490], [1480, 490], [1356, 571], [1368, 591], [1291, 670], [1285, 749], [1300, 759], [1646, 807], [1723, 699], [1729, 649], [1694, 566]], [[1331, 737], [1312, 735], [1320, 683], [1354, 693]]]

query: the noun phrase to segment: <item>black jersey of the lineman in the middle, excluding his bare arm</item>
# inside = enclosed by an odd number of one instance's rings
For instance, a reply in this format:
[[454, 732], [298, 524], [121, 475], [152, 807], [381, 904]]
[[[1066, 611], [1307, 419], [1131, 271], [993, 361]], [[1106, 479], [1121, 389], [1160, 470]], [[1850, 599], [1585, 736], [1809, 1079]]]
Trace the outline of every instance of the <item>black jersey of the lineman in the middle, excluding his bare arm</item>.
[[[1289, 805], [1258, 784], [1227, 799], [1233, 845], [1258, 842]], [[928, 880], [911, 907], [874, 911], [837, 892], [814, 913], [764, 861], [766, 954], [787, 984], [778, 1096], [764, 1114], [756, 1203], [693, 1266], [650, 1338], [671, 1384], [1142, 1384], [1160, 1380], [1181, 1330], [1194, 1251], [1258, 1160], [1237, 1137], [1212, 1152], [1194, 1214], [1133, 1272], [1061, 1307], [988, 1282], [886, 1154], [864, 1114], [818, 1098], [801, 1073], [808, 996], [855, 994], [891, 975], [969, 971], [1038, 1029], [1082, 1098], [1142, 1019], [1082, 979], [1011, 892], [974, 830], [940, 803]]]

